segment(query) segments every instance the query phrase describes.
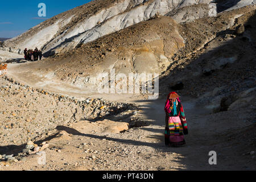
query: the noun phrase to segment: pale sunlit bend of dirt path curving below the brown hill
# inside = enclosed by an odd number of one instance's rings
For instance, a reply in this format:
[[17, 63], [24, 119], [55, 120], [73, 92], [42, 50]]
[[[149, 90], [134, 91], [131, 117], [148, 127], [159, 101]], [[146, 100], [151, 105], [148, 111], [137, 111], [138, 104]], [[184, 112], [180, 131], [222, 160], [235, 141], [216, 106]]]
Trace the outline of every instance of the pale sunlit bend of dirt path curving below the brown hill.
[[[67, 82], [60, 82], [55, 79], [53, 72], [40, 73], [31, 71], [37, 62], [27, 62], [22, 64], [8, 64], [7, 75], [14, 78], [14, 80], [30, 85], [33, 88], [47, 89], [48, 91], [66, 94], [73, 97], [92, 97], [104, 98], [112, 101], [131, 101], [134, 100], [134, 94], [99, 94], [96, 89], [85, 88], [68, 84]], [[25, 65], [25, 66], [24, 66]], [[139, 96], [139, 94], [135, 95]]]

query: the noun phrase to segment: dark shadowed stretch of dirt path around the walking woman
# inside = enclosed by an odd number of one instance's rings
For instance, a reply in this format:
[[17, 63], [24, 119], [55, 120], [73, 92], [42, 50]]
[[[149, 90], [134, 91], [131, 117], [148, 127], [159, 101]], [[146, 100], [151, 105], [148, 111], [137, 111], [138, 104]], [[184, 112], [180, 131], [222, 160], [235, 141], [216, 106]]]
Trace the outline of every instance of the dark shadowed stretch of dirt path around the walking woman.
[[[146, 135], [157, 136], [158, 147], [164, 152], [175, 152], [182, 157], [175, 160], [183, 164], [188, 170], [255, 170], [254, 157], [245, 155], [247, 145], [245, 140], [229, 137], [230, 129], [236, 133], [241, 131], [243, 126], [232, 126], [228, 129], [227, 117], [232, 118], [232, 113], [213, 114], [211, 110], [206, 109], [203, 105], [197, 105], [197, 100], [191, 98], [183, 98], [185, 115], [188, 121], [189, 135], [185, 136], [187, 145], [180, 148], [164, 147], [163, 131], [164, 131], [164, 111], [163, 104], [165, 100], [156, 100], [143, 104], [144, 114], [148, 119], [152, 119], [152, 125], [144, 127], [149, 132]], [[225, 119], [225, 120], [224, 120]], [[250, 124], [247, 123], [250, 127]], [[250, 128], [249, 128], [250, 130]], [[238, 133], [236, 133], [238, 134]], [[236, 135], [235, 134], [235, 135]], [[237, 140], [236, 140], [237, 139]], [[239, 144], [238, 144], [239, 143]], [[242, 146], [242, 147], [241, 147]], [[251, 146], [251, 150], [255, 147]], [[209, 165], [209, 152], [216, 151], [217, 165]], [[168, 161], [168, 160], [167, 160]], [[170, 163], [170, 165], [172, 165]]]

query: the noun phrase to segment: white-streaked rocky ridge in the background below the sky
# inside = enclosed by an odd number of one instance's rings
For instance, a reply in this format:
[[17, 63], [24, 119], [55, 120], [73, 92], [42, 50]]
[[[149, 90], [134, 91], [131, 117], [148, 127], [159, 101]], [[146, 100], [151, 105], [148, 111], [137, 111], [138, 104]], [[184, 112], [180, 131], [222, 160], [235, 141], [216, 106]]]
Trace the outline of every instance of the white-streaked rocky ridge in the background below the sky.
[[[54, 16], [24, 34], [7, 40], [5, 47], [22, 53], [24, 47], [43, 49], [46, 55], [72, 50], [104, 35], [133, 26], [158, 15], [171, 15], [178, 23], [203, 16], [215, 16], [224, 10], [251, 5], [253, 0], [238, 3], [210, 0], [96, 0]], [[196, 10], [195, 10], [196, 9]], [[9, 50], [7, 48], [6, 50]]]

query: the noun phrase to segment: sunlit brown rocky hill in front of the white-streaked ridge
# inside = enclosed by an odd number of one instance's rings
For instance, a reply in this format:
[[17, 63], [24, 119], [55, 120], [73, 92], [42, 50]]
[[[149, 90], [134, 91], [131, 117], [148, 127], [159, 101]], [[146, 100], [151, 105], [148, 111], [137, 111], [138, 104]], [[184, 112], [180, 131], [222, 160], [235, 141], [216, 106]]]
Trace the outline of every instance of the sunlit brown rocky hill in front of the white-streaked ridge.
[[[249, 40], [249, 44], [253, 43], [254, 27], [252, 23], [248, 26], [247, 22], [254, 19], [254, 14], [255, 5], [250, 5], [187, 23], [175, 22], [170, 17], [171, 14], [155, 17], [102, 36], [93, 42], [80, 44], [72, 51], [31, 63], [29, 67], [19, 65], [14, 72], [20, 79], [24, 77], [22, 81], [25, 82], [37, 82], [43, 77], [44, 86], [54, 81], [55, 84], [68, 84], [90, 92], [97, 92], [94, 78], [99, 73], [110, 73], [113, 68], [115, 75], [159, 73], [160, 77], [164, 77], [174, 72], [174, 68], [184, 68], [193, 61], [193, 57], [201, 56], [203, 50], [210, 51], [220, 47], [222, 42], [237, 40], [237, 35], [242, 36], [242, 40]], [[224, 41], [217, 41], [218, 39]], [[214, 46], [209, 46], [210, 44]], [[237, 49], [236, 46], [234, 49]], [[225, 52], [230, 52], [230, 55], [211, 55], [200, 60], [201, 65], [196, 66], [187, 76], [199, 76], [236, 62], [238, 55], [234, 55], [234, 49]]]

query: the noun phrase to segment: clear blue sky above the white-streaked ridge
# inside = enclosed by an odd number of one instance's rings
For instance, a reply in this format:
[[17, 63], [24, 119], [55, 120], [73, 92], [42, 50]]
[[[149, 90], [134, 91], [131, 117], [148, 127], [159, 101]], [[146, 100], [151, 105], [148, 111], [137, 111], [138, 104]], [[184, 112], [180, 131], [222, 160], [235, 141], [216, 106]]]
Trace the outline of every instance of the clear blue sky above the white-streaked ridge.
[[38, 19], [39, 3], [46, 4], [45, 18], [52, 18], [52, 16], [88, 2], [90, 2], [90, 0], [1, 1], [0, 38], [13, 38], [46, 20]]

